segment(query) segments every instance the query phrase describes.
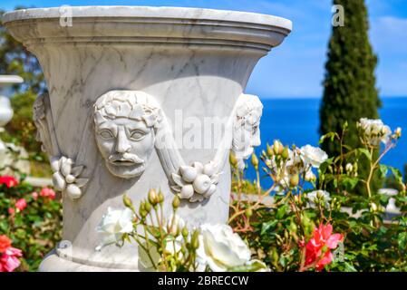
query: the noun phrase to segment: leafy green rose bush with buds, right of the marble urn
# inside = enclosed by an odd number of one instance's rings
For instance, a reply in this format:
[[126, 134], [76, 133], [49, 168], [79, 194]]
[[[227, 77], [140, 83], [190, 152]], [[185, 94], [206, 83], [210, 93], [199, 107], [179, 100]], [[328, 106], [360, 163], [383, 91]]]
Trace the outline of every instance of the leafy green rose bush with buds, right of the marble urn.
[[[361, 140], [368, 137], [361, 131], [357, 136]], [[391, 135], [380, 157], [377, 157], [374, 150], [378, 150], [380, 144], [371, 146], [369, 142], [363, 142], [363, 147], [353, 148], [342, 142], [344, 133], [327, 133], [322, 142], [336, 142], [341, 153], [319, 166], [316, 186], [304, 180], [301, 172], [304, 168], [306, 170], [306, 165], [303, 161], [298, 160], [297, 169], [292, 168], [296, 163], [296, 153], [290, 155], [289, 160], [283, 159], [279, 165], [281, 156], [273, 148], [267, 148], [266, 152], [262, 152], [261, 160], [265, 164], [266, 177], [273, 180], [271, 189], [276, 189], [277, 184], [278, 190], [275, 191], [278, 194], [271, 205], [259, 206], [256, 199], [251, 202], [234, 200], [230, 225], [246, 240], [252, 253], [256, 253], [253, 258], [264, 261], [271, 271], [313, 270], [314, 267], [304, 265], [305, 247], [315, 235], [315, 227], [320, 224], [332, 225], [334, 233], [344, 237], [343, 250], [338, 247], [332, 251], [332, 263], [325, 265], [325, 271], [407, 271], [406, 180], [402, 179], [399, 169], [381, 164], [383, 156], [396, 146], [399, 138]], [[296, 146], [293, 146], [293, 152], [295, 150]], [[345, 166], [346, 159], [355, 162]], [[392, 188], [399, 189], [398, 194], [392, 197], [379, 194], [372, 187], [372, 179], [358, 175], [358, 161], [362, 159], [369, 162], [369, 176], [392, 177]], [[234, 167], [234, 170], [237, 168]], [[301, 180], [296, 186], [285, 187], [278, 181], [281, 180], [279, 174], [284, 176], [298, 172]], [[235, 171], [233, 176], [237, 196], [238, 190], [250, 189]], [[260, 180], [257, 182], [260, 183]], [[357, 185], [366, 189], [363, 196], [356, 191]], [[325, 189], [333, 189], [329, 198], [312, 196], [315, 190], [327, 193]], [[253, 189], [251, 193], [258, 194], [258, 200], [261, 200], [264, 192], [269, 191]], [[385, 208], [391, 198], [395, 199], [400, 214], [388, 218]], [[247, 208], [253, 209], [250, 217], [243, 214]]]

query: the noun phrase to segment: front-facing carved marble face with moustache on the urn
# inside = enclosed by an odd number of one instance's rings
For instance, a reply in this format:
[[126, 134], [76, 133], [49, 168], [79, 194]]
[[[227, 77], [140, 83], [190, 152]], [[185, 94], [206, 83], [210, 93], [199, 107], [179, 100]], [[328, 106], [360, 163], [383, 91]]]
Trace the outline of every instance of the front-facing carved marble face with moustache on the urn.
[[96, 103], [99, 150], [111, 174], [123, 179], [141, 176], [154, 149], [154, 110], [147, 107], [145, 98], [132, 98], [134, 93], [108, 92]]

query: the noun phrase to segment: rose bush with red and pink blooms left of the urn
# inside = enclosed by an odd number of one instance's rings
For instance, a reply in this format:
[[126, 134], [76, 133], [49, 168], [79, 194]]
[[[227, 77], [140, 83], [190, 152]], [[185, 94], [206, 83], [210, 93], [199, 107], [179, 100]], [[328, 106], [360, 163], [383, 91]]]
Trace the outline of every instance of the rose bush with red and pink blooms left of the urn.
[[61, 239], [61, 228], [62, 206], [53, 189], [0, 177], [0, 237], [13, 244], [3, 250], [0, 238], [0, 271], [35, 271]]

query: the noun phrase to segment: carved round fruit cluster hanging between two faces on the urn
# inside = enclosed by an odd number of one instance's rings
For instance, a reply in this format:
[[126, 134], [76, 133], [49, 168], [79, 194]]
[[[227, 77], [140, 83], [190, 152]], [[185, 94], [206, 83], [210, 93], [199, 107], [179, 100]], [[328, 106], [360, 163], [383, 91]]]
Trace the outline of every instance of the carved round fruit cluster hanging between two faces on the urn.
[[192, 166], [180, 166], [179, 174], [172, 173], [175, 185], [171, 189], [179, 193], [179, 198], [201, 202], [215, 193], [218, 178], [219, 173], [213, 161], [205, 165], [194, 162]]

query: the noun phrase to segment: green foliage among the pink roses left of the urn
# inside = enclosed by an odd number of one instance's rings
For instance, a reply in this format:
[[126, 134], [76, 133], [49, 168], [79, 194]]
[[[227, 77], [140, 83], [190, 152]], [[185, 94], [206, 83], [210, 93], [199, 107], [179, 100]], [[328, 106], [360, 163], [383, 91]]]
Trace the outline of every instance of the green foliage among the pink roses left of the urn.
[[[0, 185], [0, 235], [13, 240], [13, 247], [23, 251], [22, 265], [17, 271], [36, 271], [44, 256], [61, 240], [62, 205], [59, 200], [38, 197], [40, 192], [26, 182], [8, 189]], [[24, 198], [27, 207], [22, 211], [8, 212], [15, 202]]]

